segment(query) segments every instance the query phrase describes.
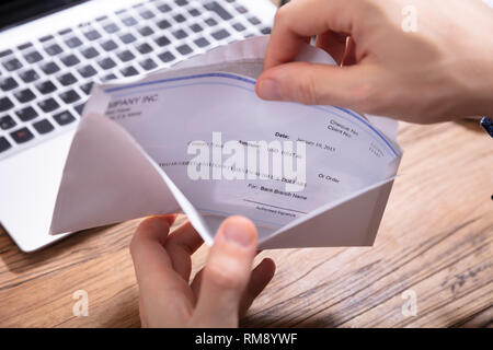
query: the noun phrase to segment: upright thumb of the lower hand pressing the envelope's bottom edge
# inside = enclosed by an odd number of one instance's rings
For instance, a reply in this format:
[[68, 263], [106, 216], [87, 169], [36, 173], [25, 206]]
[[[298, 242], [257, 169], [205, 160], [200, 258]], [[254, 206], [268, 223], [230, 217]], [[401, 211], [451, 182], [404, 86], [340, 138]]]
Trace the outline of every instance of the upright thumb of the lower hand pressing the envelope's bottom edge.
[[242, 217], [222, 222], [207, 258], [193, 316], [199, 327], [238, 327], [241, 298], [256, 253], [256, 230]]

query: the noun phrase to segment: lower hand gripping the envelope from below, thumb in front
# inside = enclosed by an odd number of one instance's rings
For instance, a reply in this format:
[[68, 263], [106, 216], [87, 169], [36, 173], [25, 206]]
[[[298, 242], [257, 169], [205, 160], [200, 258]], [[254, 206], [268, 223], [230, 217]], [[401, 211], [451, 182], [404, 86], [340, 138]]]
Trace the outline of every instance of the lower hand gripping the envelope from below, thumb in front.
[[190, 222], [169, 234], [174, 217], [142, 221], [130, 243], [142, 327], [238, 327], [274, 276], [266, 258], [252, 271], [256, 230], [241, 217], [219, 228], [206, 267], [188, 284], [203, 240]]

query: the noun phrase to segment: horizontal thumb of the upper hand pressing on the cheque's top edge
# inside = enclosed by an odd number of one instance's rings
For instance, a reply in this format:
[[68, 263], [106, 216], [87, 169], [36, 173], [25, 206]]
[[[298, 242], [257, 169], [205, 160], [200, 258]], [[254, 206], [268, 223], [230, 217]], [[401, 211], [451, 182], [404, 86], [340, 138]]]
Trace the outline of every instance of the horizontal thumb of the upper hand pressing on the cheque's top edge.
[[263, 100], [359, 108], [372, 89], [368, 67], [290, 62], [264, 71], [256, 83]]

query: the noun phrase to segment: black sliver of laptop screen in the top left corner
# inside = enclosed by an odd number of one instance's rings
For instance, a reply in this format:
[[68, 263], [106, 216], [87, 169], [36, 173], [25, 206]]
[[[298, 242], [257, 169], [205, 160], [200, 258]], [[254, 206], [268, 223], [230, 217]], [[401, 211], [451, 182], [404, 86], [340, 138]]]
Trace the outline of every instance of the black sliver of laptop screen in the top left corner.
[[87, 0], [1, 0], [0, 31]]

